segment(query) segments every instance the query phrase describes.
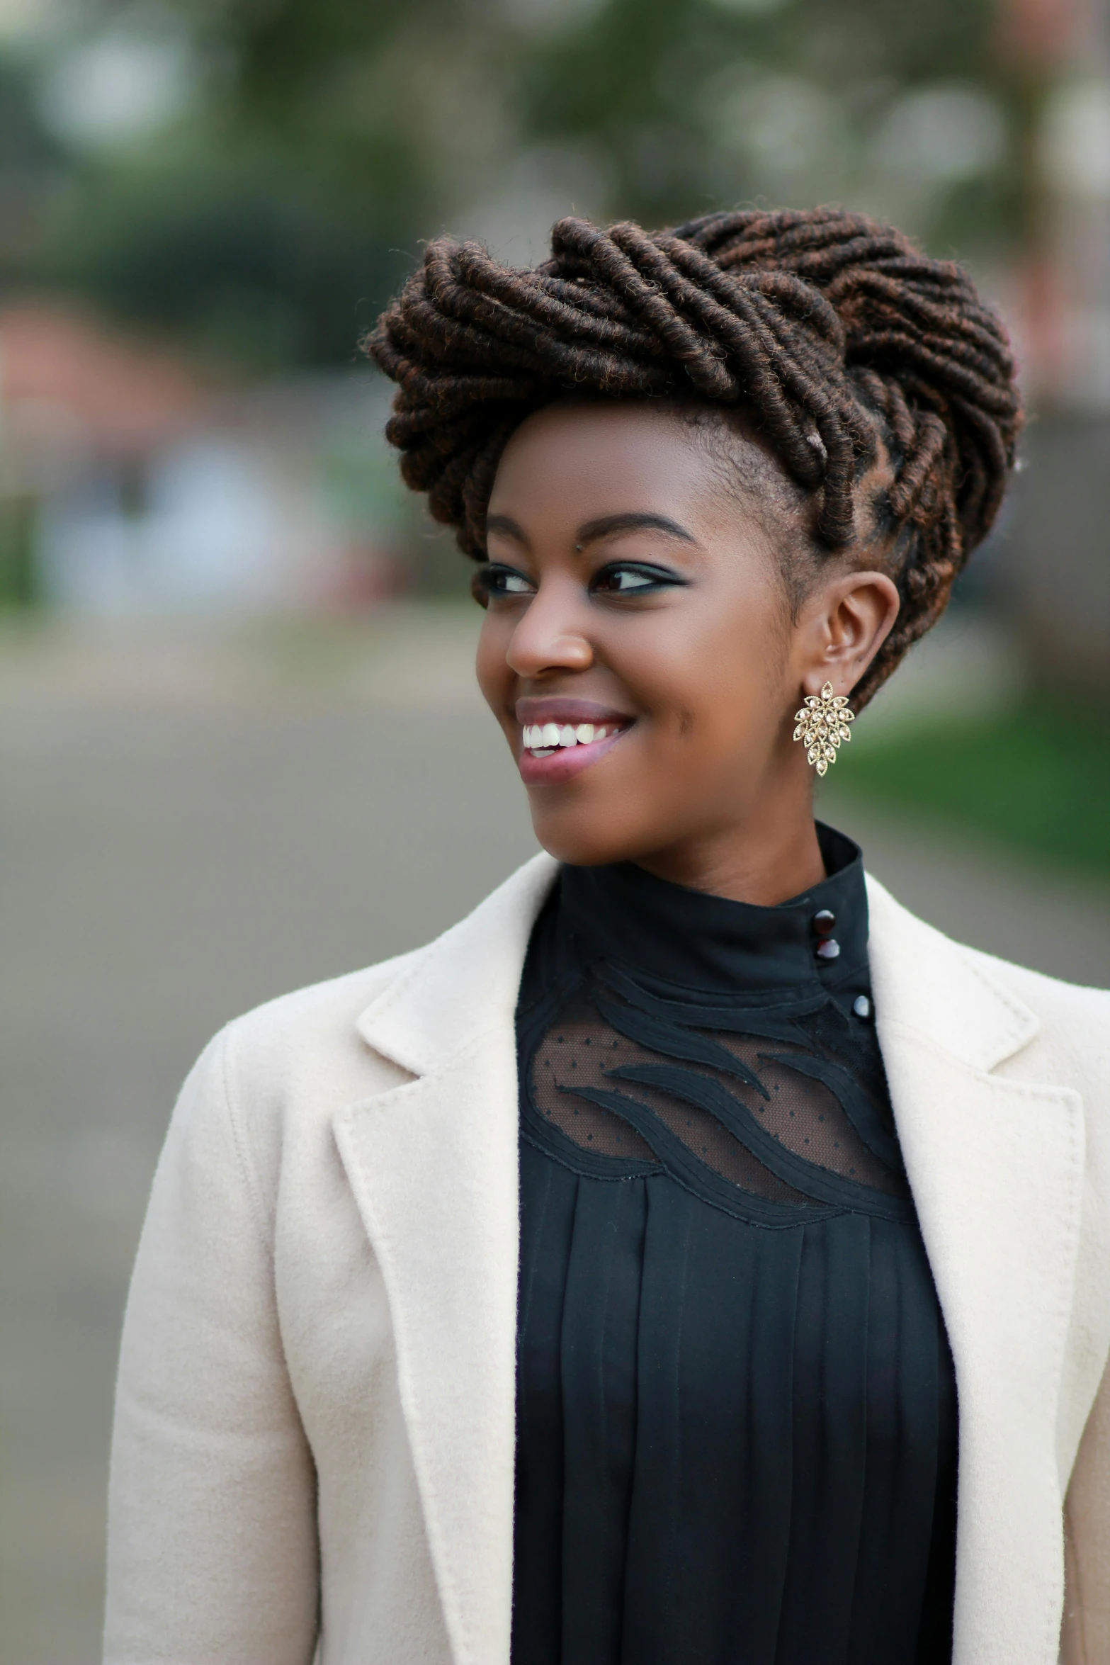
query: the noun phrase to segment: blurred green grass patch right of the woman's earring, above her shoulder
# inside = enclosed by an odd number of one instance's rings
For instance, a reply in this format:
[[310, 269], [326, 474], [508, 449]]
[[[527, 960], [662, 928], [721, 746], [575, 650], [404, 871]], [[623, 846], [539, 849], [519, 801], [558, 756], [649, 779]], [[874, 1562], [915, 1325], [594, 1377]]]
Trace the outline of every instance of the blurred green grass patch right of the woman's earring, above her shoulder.
[[837, 788], [1110, 877], [1110, 724], [1097, 701], [1028, 696], [980, 721], [864, 738]]

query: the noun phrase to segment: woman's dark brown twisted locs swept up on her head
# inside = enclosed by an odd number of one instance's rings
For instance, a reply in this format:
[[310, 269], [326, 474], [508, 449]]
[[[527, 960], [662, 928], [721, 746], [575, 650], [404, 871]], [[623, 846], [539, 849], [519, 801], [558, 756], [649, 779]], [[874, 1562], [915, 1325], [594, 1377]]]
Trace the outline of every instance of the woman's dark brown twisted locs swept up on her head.
[[832, 208], [667, 231], [559, 220], [534, 270], [441, 236], [366, 348], [398, 383], [386, 436], [404, 480], [476, 558], [506, 440], [567, 391], [746, 406], [830, 549], [855, 534], [854, 488], [882, 445], [902, 608], [857, 703], [942, 613], [1020, 428], [1005, 331], [967, 275]]

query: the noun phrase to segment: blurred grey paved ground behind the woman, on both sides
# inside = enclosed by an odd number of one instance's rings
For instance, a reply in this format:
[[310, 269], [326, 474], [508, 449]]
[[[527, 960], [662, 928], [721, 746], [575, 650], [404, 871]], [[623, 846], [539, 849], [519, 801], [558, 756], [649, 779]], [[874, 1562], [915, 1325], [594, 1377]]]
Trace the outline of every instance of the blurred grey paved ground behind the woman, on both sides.
[[[93, 1665], [111, 1379], [176, 1087], [233, 1012], [413, 946], [534, 844], [469, 626], [0, 648], [0, 1665]], [[1110, 894], [854, 806], [917, 911], [1110, 981]]]

